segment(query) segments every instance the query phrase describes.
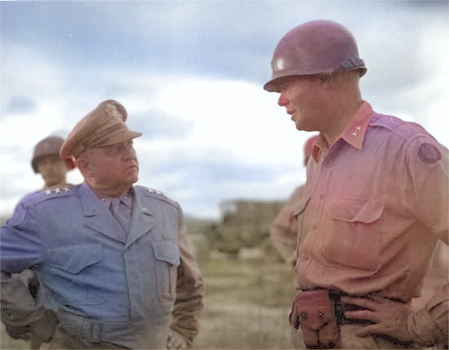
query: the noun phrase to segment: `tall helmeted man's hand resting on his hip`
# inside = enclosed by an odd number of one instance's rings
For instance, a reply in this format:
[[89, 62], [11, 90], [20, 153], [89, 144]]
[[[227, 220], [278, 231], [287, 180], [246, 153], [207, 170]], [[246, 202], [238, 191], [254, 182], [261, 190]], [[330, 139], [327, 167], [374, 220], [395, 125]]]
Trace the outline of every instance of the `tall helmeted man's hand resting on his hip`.
[[359, 337], [377, 334], [387, 335], [401, 342], [413, 340], [407, 330], [407, 319], [413, 313], [408, 305], [377, 296], [370, 299], [342, 297], [341, 302], [364, 309], [346, 311], [346, 318], [373, 322], [356, 332]]

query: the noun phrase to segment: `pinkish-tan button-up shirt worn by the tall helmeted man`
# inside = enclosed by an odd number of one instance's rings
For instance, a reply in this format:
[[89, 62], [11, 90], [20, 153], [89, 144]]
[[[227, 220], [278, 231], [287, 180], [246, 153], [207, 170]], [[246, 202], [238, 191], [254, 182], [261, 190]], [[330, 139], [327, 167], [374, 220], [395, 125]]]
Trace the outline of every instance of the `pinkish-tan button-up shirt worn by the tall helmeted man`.
[[298, 289], [417, 297], [448, 243], [448, 153], [422, 127], [363, 102], [330, 148], [318, 141], [297, 208]]

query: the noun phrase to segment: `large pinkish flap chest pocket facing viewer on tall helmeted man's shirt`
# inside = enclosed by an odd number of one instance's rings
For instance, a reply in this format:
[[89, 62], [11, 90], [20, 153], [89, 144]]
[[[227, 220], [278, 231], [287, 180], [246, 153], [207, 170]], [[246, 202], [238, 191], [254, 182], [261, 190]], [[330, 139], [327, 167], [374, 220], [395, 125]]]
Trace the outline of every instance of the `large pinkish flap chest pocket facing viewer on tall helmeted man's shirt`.
[[384, 205], [363, 199], [332, 198], [327, 205], [329, 230], [323, 234], [326, 265], [374, 273], [380, 267], [380, 220]]

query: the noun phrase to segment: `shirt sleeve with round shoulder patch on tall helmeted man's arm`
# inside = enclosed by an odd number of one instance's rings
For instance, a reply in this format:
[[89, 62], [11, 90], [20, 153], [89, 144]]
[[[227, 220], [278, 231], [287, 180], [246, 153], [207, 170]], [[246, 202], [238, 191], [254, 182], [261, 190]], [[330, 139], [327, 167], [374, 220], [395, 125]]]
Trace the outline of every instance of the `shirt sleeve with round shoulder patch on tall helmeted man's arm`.
[[[446, 244], [449, 235], [448, 150], [430, 136], [413, 139], [407, 148], [410, 181], [405, 187], [407, 207]], [[410, 315], [407, 328], [421, 346], [448, 346], [449, 285], [445, 284], [425, 307]]]

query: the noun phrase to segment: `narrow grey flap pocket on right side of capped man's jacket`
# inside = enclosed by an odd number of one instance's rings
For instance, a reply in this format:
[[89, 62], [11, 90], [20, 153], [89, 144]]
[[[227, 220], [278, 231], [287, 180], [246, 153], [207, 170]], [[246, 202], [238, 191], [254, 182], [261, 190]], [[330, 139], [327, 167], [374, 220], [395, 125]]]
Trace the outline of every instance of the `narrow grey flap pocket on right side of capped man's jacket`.
[[178, 245], [172, 241], [153, 242], [155, 272], [160, 301], [176, 298], [177, 268], [180, 264]]

